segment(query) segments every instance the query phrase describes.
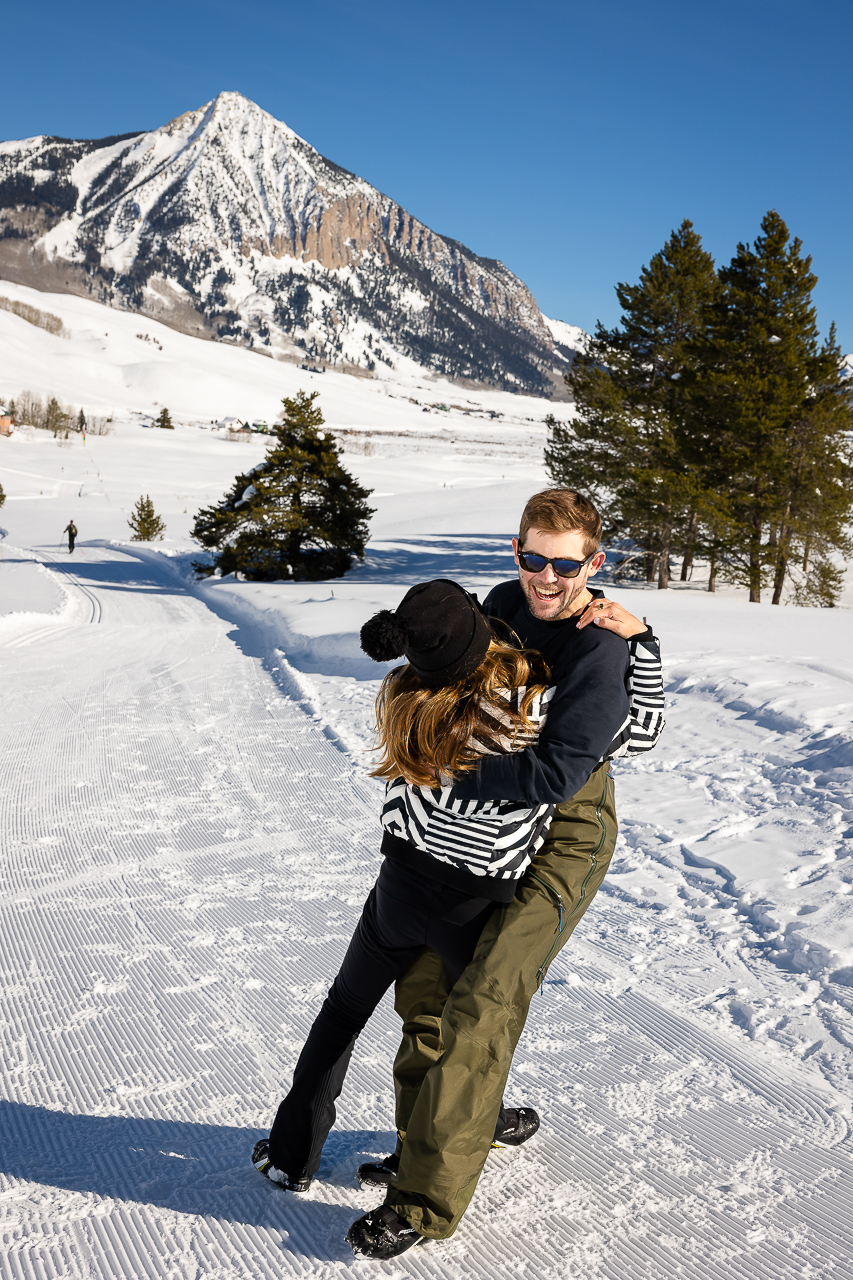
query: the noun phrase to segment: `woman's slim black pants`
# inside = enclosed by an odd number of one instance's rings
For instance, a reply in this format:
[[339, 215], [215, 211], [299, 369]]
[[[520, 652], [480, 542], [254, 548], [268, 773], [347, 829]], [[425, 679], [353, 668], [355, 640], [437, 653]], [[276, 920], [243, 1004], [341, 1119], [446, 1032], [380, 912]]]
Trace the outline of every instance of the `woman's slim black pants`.
[[352, 1047], [374, 1009], [424, 947], [442, 957], [452, 986], [474, 955], [493, 902], [473, 899], [386, 859], [341, 970], [300, 1053], [278, 1108], [269, 1156], [291, 1178], [314, 1176], [334, 1124]]

